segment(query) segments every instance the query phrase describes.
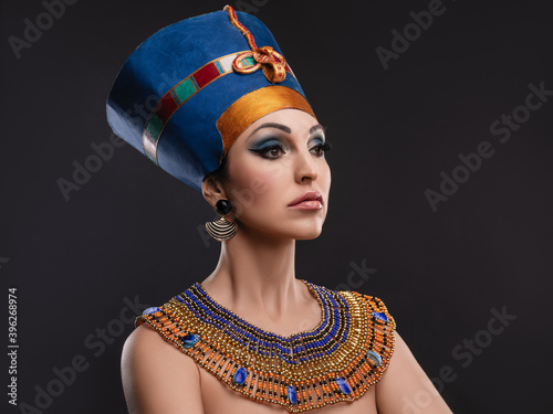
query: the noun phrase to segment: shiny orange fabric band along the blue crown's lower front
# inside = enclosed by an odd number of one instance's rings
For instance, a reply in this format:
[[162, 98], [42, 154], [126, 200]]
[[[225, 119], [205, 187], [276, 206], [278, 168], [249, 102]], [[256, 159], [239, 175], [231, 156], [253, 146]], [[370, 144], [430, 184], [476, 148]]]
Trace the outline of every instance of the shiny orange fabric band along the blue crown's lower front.
[[279, 109], [300, 109], [316, 119], [307, 100], [294, 89], [285, 86], [265, 86], [246, 94], [217, 119], [217, 129], [221, 134], [223, 155], [251, 124]]

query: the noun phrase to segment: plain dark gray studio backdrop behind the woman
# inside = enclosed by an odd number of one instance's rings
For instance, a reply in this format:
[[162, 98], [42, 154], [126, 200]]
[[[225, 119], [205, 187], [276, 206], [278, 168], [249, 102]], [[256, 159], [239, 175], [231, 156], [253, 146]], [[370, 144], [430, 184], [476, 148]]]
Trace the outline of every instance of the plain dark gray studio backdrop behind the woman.
[[[156, 30], [225, 3], [80, 0], [17, 59], [9, 36], [23, 38], [23, 20], [44, 6], [1, 2], [2, 329], [14, 286], [18, 403], [35, 406], [49, 383], [61, 394], [34, 413], [125, 412], [119, 357], [132, 323], [121, 311], [128, 300], [160, 305], [216, 265], [218, 244], [197, 230], [211, 209], [131, 146], [69, 201], [58, 180], [72, 180], [92, 144], [108, 142], [105, 98], [127, 55]], [[334, 146], [328, 217], [317, 240], [298, 243], [298, 276], [334, 288], [356, 265], [374, 269], [354, 287], [385, 300], [429, 376], [450, 367], [442, 395], [456, 413], [549, 411], [553, 97], [505, 144], [489, 128], [524, 105], [529, 84], [553, 89], [551, 6], [445, 0], [385, 71], [375, 49], [390, 49], [390, 31], [428, 1], [247, 3]], [[458, 155], [484, 140], [495, 153], [432, 212], [425, 190], [439, 191], [440, 171], [450, 176]], [[517, 319], [486, 333], [503, 307]], [[474, 338], [463, 367], [453, 350]], [[53, 370], [75, 355], [87, 368], [56, 389]], [[30, 412], [2, 395], [2, 412]]]

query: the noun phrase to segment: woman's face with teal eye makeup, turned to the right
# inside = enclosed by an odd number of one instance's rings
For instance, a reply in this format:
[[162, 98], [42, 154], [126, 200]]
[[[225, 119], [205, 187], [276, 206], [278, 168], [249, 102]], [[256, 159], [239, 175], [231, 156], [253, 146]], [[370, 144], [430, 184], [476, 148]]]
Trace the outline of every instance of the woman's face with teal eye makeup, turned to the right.
[[[294, 240], [321, 234], [331, 189], [324, 142], [323, 127], [299, 109], [265, 115], [237, 138], [221, 184], [240, 232]], [[298, 203], [302, 198], [310, 201]]]

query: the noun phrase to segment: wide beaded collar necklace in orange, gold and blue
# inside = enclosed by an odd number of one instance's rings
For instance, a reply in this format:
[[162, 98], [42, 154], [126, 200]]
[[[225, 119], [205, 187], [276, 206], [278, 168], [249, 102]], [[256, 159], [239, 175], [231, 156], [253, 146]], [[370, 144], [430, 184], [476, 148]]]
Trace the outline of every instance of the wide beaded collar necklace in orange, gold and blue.
[[394, 351], [394, 318], [384, 302], [305, 283], [321, 306], [320, 323], [283, 337], [241, 319], [199, 283], [135, 326], [152, 325], [232, 390], [299, 413], [361, 397], [378, 382]]

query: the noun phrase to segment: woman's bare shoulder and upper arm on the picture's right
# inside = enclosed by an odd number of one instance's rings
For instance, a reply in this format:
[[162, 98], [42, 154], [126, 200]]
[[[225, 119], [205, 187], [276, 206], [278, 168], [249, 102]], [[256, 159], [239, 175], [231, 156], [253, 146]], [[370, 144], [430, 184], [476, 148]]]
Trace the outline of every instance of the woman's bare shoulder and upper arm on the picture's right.
[[451, 414], [397, 331], [394, 332], [394, 354], [382, 380], [376, 384], [378, 413]]

